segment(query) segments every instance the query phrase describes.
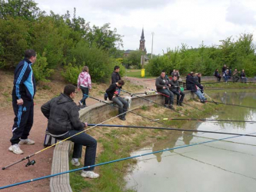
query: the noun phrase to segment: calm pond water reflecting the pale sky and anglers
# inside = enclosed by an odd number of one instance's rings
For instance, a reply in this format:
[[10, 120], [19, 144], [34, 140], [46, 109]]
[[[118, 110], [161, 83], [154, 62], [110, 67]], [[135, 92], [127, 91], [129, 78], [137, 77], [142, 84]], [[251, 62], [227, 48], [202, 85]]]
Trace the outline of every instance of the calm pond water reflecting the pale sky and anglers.
[[[211, 93], [216, 101], [256, 107], [256, 91], [218, 91]], [[209, 119], [256, 121], [256, 109], [221, 105]], [[223, 131], [256, 135], [256, 124], [198, 123], [190, 121], [184, 128], [194, 132], [169, 134], [131, 155], [194, 144], [224, 137], [225, 134], [203, 134], [197, 130]], [[159, 154], [138, 157], [138, 163], [127, 177], [127, 189], [138, 192], [246, 192], [256, 191], [256, 137], [235, 137]]]

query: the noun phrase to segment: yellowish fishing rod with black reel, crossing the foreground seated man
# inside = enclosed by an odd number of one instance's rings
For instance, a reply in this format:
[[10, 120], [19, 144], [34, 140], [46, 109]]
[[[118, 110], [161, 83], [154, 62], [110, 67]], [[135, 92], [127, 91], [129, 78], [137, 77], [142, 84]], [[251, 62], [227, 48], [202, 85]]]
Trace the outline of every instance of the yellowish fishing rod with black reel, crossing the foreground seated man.
[[[139, 107], [141, 107], [141, 106], [138, 106], [138, 107], [136, 107], [136, 108], [139, 108]], [[135, 110], [136, 108], [133, 108], [133, 109], [131, 109], [131, 110]], [[130, 112], [131, 110], [125, 111], [125, 112], [122, 113], [122, 114], [128, 113], [128, 112]], [[113, 117], [113, 118], [117, 118], [119, 115], [122, 115], [122, 114], [118, 114], [118, 115], [116, 115], [116, 116]], [[110, 120], [113, 119], [113, 118], [109, 118], [109, 119], [107, 119], [106, 121], [102, 121], [102, 122], [99, 123], [99, 124], [104, 124], [105, 122], [110, 121]], [[99, 124], [95, 124], [95, 126], [93, 126], [93, 127], [97, 127]], [[22, 161], [25, 161], [26, 159], [28, 159], [28, 163], [25, 165], [25, 167], [28, 167], [28, 166], [30, 166], [30, 165], [34, 165], [34, 164], [35, 164], [35, 160], [30, 161], [30, 160], [29, 160], [30, 157], [33, 157], [33, 156], [35, 156], [36, 154], [40, 154], [41, 152], [43, 152], [43, 151], [45, 151], [45, 150], [48, 150], [49, 148], [54, 147], [54, 146], [57, 145], [57, 144], [61, 144], [63, 141], [67, 141], [67, 140], [70, 139], [71, 137], [75, 137], [76, 135], [81, 134], [81, 133], [83, 133], [83, 132], [85, 132], [85, 131], [88, 131], [88, 130], [90, 130], [90, 129], [93, 128], [93, 127], [90, 127], [90, 128], [88, 128], [88, 129], [86, 129], [86, 130], [84, 130], [84, 131], [78, 132], [77, 134], [74, 134], [74, 135], [72, 135], [72, 136], [70, 136], [70, 137], [67, 137], [67, 138], [63, 139], [62, 141], [58, 141], [57, 143], [52, 144], [51, 146], [45, 147], [44, 149], [42, 149], [42, 150], [40, 150], [40, 151], [37, 151], [37, 152], [35, 152], [34, 154], [30, 154], [30, 155], [28, 155], [27, 157], [24, 157], [24, 158], [22, 158], [22, 159], [19, 160], [19, 161], [15, 161], [15, 162], [12, 163], [12, 164], [9, 164], [9, 165], [7, 165], [7, 166], [5, 166], [5, 167], [2, 167], [2, 170], [7, 169], [8, 167], [12, 167], [12, 166], [15, 165], [15, 164], [18, 164], [18, 163], [20, 163], [20, 162], [22, 162]]]

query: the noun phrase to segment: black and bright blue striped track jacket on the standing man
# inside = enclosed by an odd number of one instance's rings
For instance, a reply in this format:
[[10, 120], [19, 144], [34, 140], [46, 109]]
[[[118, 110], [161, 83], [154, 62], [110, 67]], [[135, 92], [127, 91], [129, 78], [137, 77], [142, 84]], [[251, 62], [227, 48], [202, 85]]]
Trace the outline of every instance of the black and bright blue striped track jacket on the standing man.
[[15, 100], [33, 101], [35, 96], [35, 76], [32, 62], [24, 58], [15, 68], [12, 97]]

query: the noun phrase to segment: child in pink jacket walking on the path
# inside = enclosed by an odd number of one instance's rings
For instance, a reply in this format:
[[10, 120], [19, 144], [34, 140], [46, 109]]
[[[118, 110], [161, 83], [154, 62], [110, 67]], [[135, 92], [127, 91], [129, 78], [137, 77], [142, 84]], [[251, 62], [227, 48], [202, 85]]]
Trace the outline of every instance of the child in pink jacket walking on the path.
[[91, 89], [91, 76], [89, 68], [85, 66], [78, 76], [78, 91], [81, 89], [82, 98], [78, 102], [79, 105], [87, 106], [85, 100], [88, 98], [89, 89]]

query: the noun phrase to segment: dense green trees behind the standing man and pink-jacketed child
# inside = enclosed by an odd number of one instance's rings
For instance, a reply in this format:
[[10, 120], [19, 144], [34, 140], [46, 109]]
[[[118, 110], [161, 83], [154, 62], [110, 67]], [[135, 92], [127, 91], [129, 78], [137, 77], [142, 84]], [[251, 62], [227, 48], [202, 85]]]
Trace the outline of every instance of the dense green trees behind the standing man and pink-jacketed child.
[[45, 81], [62, 68], [65, 79], [76, 84], [82, 66], [87, 65], [94, 81], [105, 81], [115, 65], [121, 35], [111, 25], [91, 27], [84, 18], [70, 12], [46, 14], [32, 0], [0, 0], [0, 68], [12, 69], [32, 48], [37, 52], [35, 78]]

